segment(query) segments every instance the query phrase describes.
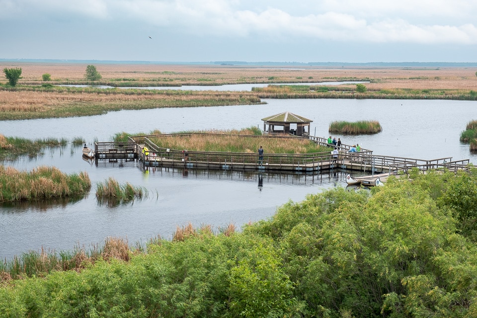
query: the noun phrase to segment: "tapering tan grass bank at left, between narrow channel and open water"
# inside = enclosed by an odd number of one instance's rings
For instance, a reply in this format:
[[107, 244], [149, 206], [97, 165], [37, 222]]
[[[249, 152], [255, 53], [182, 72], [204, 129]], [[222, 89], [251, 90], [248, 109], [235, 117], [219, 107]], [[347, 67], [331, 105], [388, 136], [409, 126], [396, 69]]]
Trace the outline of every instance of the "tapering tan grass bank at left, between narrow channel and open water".
[[123, 109], [258, 103], [260, 98], [252, 92], [76, 87], [55, 87], [54, 90], [18, 87], [10, 91], [0, 86], [0, 120], [92, 116]]

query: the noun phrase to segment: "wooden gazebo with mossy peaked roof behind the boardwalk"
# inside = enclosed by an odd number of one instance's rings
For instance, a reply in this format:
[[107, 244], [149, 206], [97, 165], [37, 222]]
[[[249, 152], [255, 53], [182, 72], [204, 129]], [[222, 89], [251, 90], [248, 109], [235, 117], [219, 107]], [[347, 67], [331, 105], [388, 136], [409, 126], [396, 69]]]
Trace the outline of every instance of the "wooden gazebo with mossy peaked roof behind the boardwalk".
[[292, 114], [288, 111], [262, 118], [263, 131], [268, 134], [310, 135], [310, 123], [313, 120]]

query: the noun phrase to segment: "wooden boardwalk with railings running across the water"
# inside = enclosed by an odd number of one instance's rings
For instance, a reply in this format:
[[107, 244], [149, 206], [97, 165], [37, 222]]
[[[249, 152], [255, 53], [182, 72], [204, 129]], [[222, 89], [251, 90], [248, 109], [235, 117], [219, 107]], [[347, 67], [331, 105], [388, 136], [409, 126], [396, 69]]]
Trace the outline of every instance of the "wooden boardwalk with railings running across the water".
[[[264, 154], [260, 162], [258, 154], [198, 152], [165, 149], [156, 146], [149, 137], [135, 136], [130, 142], [95, 143], [96, 160], [117, 161], [118, 159], [137, 160], [146, 167], [177, 167], [197, 169], [231, 169], [257, 171], [287, 171], [295, 173], [314, 173], [320, 170], [341, 168], [369, 173], [397, 172], [407, 173], [411, 168], [426, 171], [429, 169], [468, 170], [469, 159], [453, 161], [452, 157], [440, 159], [412, 159], [391, 156], [376, 156], [370, 150], [349, 153], [350, 146], [342, 145], [338, 159], [331, 152], [315, 154]], [[261, 136], [263, 137], [263, 136]], [[264, 137], [270, 138], [270, 137]], [[326, 140], [310, 137], [317, 144]], [[332, 147], [329, 148], [330, 150]]]

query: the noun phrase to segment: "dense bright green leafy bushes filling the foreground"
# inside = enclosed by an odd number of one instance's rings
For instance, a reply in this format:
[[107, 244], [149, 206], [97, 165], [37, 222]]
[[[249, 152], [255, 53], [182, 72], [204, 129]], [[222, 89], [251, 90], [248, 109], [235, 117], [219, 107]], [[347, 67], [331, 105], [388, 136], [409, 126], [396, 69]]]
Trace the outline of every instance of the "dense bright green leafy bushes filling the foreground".
[[[4, 317], [476, 317], [477, 181], [413, 172], [0, 288]], [[461, 199], [459, 199], [461, 198]]]

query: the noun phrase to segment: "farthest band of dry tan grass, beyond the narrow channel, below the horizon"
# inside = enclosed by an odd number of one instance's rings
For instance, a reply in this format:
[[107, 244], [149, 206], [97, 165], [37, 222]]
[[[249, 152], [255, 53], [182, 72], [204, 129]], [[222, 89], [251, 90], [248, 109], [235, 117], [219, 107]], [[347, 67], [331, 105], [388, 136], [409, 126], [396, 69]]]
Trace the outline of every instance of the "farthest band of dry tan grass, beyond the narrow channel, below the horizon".
[[[51, 74], [54, 81], [81, 81], [87, 64], [0, 63], [3, 68], [22, 68], [19, 84], [37, 81]], [[168, 84], [322, 82], [343, 79], [371, 79], [369, 89], [476, 89], [476, 67], [250, 67], [221, 65], [94, 64], [102, 82], [118, 79]], [[6, 79], [3, 79], [6, 83]]]

